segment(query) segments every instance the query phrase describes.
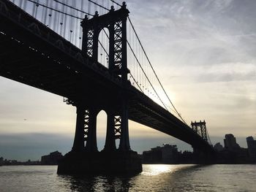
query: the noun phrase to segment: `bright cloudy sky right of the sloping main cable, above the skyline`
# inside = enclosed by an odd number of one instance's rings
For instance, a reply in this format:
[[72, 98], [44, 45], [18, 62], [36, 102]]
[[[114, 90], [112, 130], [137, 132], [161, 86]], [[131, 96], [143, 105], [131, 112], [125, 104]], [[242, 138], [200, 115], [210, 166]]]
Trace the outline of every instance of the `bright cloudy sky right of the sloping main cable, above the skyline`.
[[252, 134], [256, 1], [129, 2], [140, 40], [182, 116], [206, 119], [213, 135]]

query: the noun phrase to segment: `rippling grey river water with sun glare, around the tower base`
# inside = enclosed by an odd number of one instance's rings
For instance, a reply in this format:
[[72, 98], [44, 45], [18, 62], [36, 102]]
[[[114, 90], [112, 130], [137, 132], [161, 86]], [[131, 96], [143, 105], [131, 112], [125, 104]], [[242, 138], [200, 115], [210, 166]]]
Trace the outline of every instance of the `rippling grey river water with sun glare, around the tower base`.
[[57, 166], [0, 166], [0, 191], [256, 191], [255, 165], [143, 165], [135, 176], [67, 176]]

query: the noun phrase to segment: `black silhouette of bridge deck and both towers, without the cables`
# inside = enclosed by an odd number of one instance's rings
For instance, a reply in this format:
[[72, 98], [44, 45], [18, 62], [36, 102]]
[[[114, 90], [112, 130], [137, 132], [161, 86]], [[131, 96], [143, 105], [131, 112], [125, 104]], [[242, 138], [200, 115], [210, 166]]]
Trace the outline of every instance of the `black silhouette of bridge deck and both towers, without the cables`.
[[[134, 166], [135, 172], [141, 169], [138, 157], [130, 150], [128, 119], [181, 139], [195, 149], [213, 153], [205, 123], [194, 123], [190, 128], [128, 80], [128, 14], [123, 4], [118, 10], [112, 7], [105, 15], [95, 13], [90, 19], [84, 18], [80, 49], [11, 1], [0, 0], [0, 75], [63, 96], [67, 104], [77, 107], [74, 145], [62, 162], [63, 172], [78, 172], [77, 167], [67, 169], [69, 164], [91, 169], [82, 164], [94, 167], [97, 165], [91, 165], [94, 164], [91, 161], [98, 164], [102, 158], [102, 155], [92, 155], [94, 158], [90, 160], [84, 157], [85, 153], [98, 154], [96, 124], [100, 110], [108, 115], [103, 157], [114, 154], [119, 160], [113, 166], [120, 168], [126, 164], [125, 171], [133, 170], [129, 166]], [[99, 32], [103, 28], [109, 31], [108, 67], [98, 62]], [[116, 139], [120, 139], [118, 150]], [[132, 160], [122, 163], [120, 158]], [[81, 159], [86, 163], [81, 163]], [[106, 161], [110, 164], [113, 159]]]

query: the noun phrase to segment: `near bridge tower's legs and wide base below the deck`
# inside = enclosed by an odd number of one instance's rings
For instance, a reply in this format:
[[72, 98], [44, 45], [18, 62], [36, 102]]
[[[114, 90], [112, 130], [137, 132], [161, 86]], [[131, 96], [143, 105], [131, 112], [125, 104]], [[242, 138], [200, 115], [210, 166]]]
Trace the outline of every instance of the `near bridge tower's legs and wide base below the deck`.
[[[96, 137], [98, 112], [99, 110], [92, 107], [77, 106], [74, 144], [72, 150], [59, 161], [58, 174], [136, 174], [141, 172], [142, 164], [138, 153], [129, 147], [127, 104], [122, 105], [121, 112], [107, 111], [106, 142], [101, 152], [97, 150]], [[118, 149], [116, 149], [116, 139], [120, 139]]]

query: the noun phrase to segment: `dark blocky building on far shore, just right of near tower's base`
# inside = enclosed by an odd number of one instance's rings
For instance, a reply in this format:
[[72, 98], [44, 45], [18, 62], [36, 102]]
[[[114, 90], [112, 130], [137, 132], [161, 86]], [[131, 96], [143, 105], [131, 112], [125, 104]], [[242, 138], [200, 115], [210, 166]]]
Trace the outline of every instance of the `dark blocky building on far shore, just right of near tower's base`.
[[151, 164], [176, 164], [178, 149], [176, 145], [163, 145], [143, 152], [143, 162]]

